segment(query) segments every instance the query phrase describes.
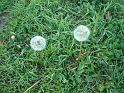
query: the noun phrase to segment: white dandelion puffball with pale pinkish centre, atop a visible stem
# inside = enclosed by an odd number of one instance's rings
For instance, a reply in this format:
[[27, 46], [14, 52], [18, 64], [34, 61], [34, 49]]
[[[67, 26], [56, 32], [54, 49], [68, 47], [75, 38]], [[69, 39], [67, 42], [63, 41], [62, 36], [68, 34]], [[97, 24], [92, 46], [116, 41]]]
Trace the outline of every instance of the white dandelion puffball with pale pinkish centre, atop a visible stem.
[[74, 30], [74, 38], [77, 41], [86, 41], [89, 35], [90, 35], [90, 30], [88, 29], [88, 27], [84, 25], [80, 25]]

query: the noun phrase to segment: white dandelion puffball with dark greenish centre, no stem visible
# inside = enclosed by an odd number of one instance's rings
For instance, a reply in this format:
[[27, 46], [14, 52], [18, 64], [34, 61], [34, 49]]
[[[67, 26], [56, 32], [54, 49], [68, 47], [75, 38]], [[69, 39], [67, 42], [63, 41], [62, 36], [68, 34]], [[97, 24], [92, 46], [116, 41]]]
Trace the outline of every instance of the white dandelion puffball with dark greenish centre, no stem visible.
[[46, 47], [46, 40], [41, 36], [35, 36], [31, 39], [30, 46], [35, 51], [41, 51]]

